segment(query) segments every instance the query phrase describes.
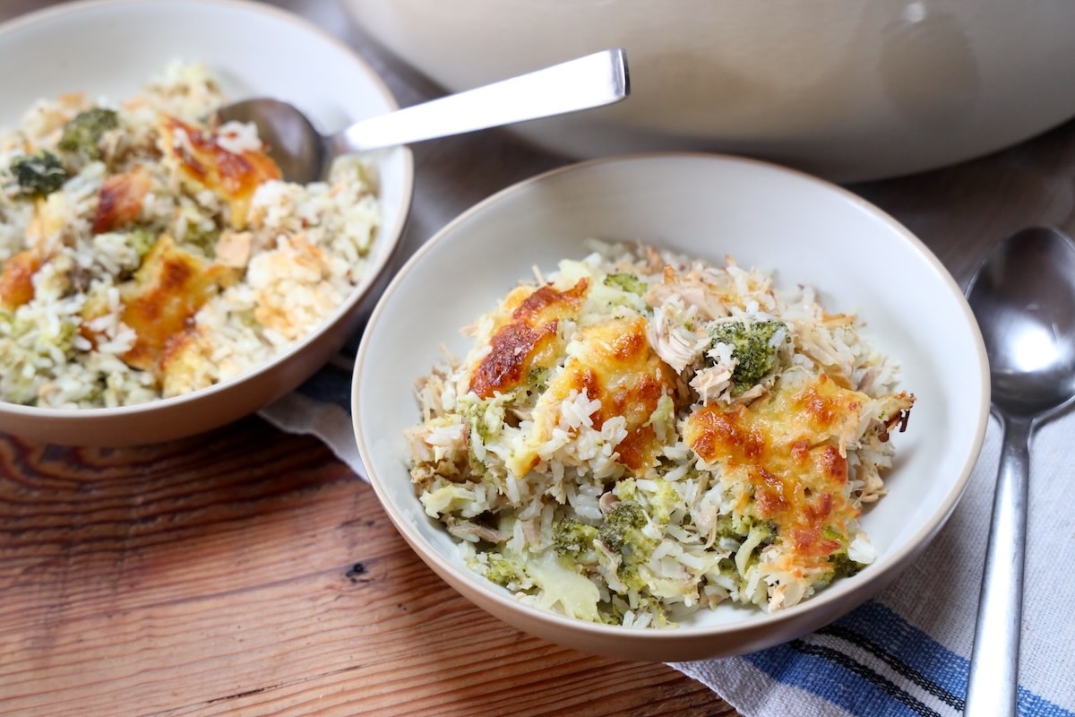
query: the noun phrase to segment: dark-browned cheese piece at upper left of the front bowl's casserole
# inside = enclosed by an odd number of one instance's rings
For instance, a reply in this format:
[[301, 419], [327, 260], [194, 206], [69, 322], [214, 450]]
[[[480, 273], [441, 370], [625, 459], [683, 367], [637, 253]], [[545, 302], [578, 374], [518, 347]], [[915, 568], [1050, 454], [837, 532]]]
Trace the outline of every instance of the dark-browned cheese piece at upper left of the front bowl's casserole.
[[470, 390], [487, 399], [517, 388], [532, 369], [550, 365], [561, 343], [558, 321], [578, 314], [588, 288], [589, 281], [580, 278], [563, 291], [545, 285], [530, 293], [510, 293], [502, 309], [511, 313], [498, 320], [490, 350], [471, 375]]

